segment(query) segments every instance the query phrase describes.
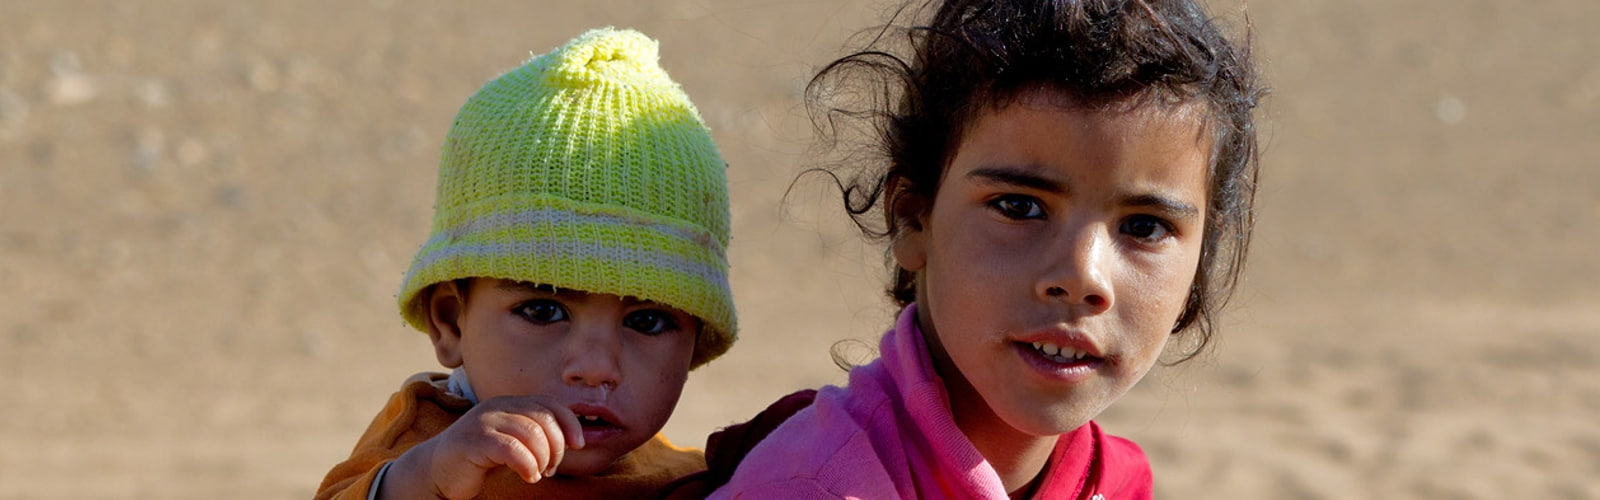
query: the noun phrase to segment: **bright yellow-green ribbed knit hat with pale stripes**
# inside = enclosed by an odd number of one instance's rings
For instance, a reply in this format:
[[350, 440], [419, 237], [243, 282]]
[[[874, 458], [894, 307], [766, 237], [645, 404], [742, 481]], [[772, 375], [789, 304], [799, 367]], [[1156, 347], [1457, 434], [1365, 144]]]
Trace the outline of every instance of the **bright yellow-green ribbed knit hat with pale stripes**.
[[701, 319], [691, 367], [728, 351], [726, 163], [656, 40], [595, 29], [483, 85], [445, 138], [432, 236], [400, 287], [498, 277], [634, 296]]

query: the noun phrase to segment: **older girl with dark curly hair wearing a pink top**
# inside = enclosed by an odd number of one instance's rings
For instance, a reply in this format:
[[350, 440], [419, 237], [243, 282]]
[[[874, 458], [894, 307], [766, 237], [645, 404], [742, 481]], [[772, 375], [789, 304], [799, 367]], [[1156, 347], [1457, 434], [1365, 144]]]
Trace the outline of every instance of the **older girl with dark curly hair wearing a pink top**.
[[880, 359], [714, 497], [1152, 495], [1139, 447], [1091, 418], [1168, 338], [1198, 354], [1237, 280], [1262, 95], [1248, 46], [1189, 0], [933, 6], [907, 56], [869, 46], [810, 87], [877, 77], [869, 103], [893, 103], [832, 112], [882, 131], [883, 170], [845, 204], [888, 240], [904, 309]]

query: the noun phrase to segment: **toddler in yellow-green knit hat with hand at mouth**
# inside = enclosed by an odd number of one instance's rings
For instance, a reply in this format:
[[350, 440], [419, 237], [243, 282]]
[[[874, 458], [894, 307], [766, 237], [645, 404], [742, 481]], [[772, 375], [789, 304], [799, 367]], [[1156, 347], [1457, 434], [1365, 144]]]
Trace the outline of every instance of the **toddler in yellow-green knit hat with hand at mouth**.
[[659, 431], [734, 341], [726, 163], [656, 51], [590, 30], [461, 107], [398, 296], [453, 372], [406, 380], [317, 498], [630, 498], [706, 468]]

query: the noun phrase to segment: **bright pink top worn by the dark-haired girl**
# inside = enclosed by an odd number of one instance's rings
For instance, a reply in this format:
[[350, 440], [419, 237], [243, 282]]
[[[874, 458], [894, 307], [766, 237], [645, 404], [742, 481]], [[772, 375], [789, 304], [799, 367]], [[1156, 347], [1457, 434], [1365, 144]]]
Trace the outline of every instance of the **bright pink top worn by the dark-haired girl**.
[[[955, 426], [917, 306], [883, 335], [880, 359], [826, 386], [766, 436], [710, 498], [1006, 498]], [[1035, 498], [1150, 498], [1150, 465], [1093, 421], [1061, 434]]]

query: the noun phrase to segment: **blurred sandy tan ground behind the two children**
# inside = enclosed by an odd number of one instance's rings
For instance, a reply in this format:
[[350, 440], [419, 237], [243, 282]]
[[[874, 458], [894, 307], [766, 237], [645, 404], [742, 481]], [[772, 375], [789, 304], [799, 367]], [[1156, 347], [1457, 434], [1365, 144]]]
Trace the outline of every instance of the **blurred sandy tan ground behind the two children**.
[[[642, 29], [733, 163], [742, 340], [667, 433], [840, 381], [880, 253], [800, 184], [870, 2], [0, 0], [0, 498], [304, 498], [435, 369], [392, 296], [485, 80]], [[1234, 3], [1219, 11], [1235, 26]], [[1163, 498], [1600, 498], [1600, 2], [1253, 2], [1218, 349], [1102, 415]]]

